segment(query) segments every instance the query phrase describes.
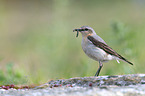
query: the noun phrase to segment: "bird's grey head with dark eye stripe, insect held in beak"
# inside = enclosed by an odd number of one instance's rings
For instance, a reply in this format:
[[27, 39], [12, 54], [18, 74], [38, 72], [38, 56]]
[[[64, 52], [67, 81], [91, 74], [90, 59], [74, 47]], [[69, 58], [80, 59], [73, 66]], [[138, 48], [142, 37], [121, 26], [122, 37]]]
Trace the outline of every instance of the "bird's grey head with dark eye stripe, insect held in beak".
[[93, 28], [89, 27], [89, 26], [82, 26], [79, 29], [74, 29], [73, 32], [77, 31], [77, 35], [76, 37], [78, 37], [79, 32], [82, 34], [82, 36], [88, 36], [88, 35], [95, 35], [95, 31]]

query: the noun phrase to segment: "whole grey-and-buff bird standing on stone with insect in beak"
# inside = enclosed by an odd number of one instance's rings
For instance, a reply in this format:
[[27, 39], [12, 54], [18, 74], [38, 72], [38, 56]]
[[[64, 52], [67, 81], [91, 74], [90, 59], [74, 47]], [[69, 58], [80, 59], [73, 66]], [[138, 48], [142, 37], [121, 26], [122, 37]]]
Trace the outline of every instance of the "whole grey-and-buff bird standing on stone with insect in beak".
[[99, 68], [95, 74], [95, 76], [99, 76], [100, 70], [103, 66], [102, 62], [110, 61], [110, 60], [122, 60], [131, 65], [130, 61], [119, 55], [115, 52], [111, 47], [109, 47], [105, 41], [99, 37], [93, 28], [89, 26], [82, 26], [79, 29], [74, 29], [77, 31], [76, 37], [78, 37], [79, 32], [82, 34], [82, 49], [86, 53], [86, 55], [96, 61], [99, 61]]

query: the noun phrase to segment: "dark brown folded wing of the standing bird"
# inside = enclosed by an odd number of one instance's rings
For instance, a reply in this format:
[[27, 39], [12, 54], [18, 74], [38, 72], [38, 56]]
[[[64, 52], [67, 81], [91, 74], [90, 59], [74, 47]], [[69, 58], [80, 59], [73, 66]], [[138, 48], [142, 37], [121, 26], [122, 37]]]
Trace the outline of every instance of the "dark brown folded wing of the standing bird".
[[106, 53], [116, 56], [119, 59], [122, 59], [124, 61], [126, 61], [127, 63], [133, 65], [133, 63], [131, 63], [130, 61], [128, 61], [127, 59], [125, 59], [124, 57], [122, 57], [121, 55], [119, 55], [116, 51], [114, 51], [111, 47], [109, 47], [107, 44], [104, 44], [98, 40], [96, 40], [94, 37], [92, 36], [88, 36], [87, 37], [96, 47], [101, 48], [102, 50], [104, 50]]

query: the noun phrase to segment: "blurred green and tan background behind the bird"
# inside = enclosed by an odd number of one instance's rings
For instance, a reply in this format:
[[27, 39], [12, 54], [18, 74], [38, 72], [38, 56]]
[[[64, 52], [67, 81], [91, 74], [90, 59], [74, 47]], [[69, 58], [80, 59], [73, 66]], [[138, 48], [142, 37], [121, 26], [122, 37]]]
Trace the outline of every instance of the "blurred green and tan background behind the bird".
[[94, 28], [134, 63], [104, 63], [100, 75], [145, 73], [145, 0], [1, 0], [0, 84], [94, 76], [98, 62], [74, 28]]

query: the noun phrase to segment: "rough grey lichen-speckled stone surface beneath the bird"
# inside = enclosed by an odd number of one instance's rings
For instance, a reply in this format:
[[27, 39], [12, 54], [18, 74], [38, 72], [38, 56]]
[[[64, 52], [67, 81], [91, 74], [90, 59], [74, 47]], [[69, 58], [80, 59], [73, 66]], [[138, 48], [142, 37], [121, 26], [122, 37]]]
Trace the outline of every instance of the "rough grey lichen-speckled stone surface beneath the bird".
[[145, 96], [145, 74], [51, 80], [33, 89], [0, 89], [0, 96]]

